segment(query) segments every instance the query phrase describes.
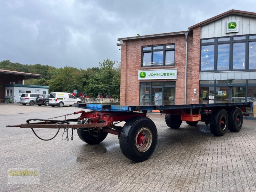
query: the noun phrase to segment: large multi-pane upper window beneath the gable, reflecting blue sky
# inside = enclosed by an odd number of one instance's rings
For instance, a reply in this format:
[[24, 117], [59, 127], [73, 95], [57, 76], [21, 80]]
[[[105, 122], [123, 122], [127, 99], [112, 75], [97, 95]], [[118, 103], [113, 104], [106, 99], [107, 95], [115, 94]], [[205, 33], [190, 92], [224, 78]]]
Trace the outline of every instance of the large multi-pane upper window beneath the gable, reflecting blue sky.
[[256, 35], [201, 40], [200, 71], [256, 69]]

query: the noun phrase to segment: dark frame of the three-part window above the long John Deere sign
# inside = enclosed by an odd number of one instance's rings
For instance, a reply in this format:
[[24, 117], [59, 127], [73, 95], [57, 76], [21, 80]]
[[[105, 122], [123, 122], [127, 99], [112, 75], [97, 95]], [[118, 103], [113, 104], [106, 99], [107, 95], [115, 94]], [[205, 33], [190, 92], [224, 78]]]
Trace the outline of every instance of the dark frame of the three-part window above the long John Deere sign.
[[[174, 45], [174, 48], [166, 48], [167, 45]], [[163, 49], [156, 49], [154, 50], [154, 47], [163, 46]], [[143, 48], [150, 47], [150, 50], [143, 50]], [[141, 67], [158, 67], [158, 66], [174, 66], [175, 65], [175, 43], [170, 44], [160, 44], [160, 45], [147, 45], [147, 46], [141, 46]], [[153, 61], [153, 54], [154, 52], [163, 51], [163, 64], [154, 64]], [[168, 51], [174, 51], [174, 60], [173, 61], [166, 61], [166, 52]], [[143, 65], [143, 59], [144, 59], [144, 53], [151, 53], [151, 62], [150, 64]], [[165, 63], [165, 62], [173, 62], [173, 63]]]

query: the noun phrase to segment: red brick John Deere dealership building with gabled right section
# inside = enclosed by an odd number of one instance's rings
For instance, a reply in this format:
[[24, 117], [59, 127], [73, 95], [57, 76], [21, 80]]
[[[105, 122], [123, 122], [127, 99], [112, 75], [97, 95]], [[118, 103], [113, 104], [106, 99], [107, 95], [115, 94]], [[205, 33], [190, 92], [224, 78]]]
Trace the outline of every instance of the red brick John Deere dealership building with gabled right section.
[[118, 38], [121, 103], [256, 101], [256, 13], [230, 10], [186, 31]]

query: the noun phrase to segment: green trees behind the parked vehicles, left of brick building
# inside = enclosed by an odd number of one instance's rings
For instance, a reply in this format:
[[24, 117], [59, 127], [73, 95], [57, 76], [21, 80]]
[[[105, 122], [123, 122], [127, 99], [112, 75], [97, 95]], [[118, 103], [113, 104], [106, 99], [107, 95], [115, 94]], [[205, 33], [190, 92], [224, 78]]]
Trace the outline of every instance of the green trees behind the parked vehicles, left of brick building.
[[0, 69], [41, 74], [41, 79], [25, 80], [24, 84], [50, 86], [49, 92], [72, 92], [79, 90], [91, 97], [102, 93], [106, 97], [120, 98], [120, 63], [110, 59], [99, 62], [99, 67], [77, 69], [55, 68], [48, 65], [23, 65], [10, 60], [0, 61]]

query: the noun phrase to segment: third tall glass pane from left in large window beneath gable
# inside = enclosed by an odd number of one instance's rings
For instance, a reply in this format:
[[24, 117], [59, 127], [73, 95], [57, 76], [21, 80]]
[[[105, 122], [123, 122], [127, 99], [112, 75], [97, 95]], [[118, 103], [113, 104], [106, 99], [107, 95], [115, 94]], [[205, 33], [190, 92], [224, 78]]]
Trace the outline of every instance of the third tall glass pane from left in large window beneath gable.
[[233, 44], [233, 69], [245, 69], [245, 43]]

